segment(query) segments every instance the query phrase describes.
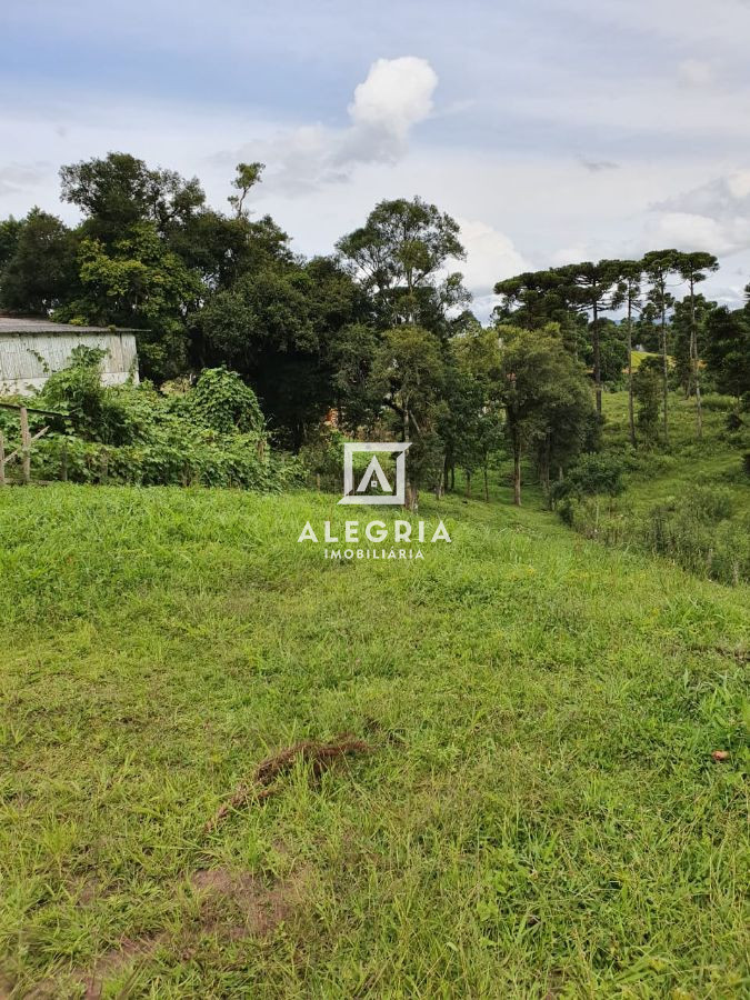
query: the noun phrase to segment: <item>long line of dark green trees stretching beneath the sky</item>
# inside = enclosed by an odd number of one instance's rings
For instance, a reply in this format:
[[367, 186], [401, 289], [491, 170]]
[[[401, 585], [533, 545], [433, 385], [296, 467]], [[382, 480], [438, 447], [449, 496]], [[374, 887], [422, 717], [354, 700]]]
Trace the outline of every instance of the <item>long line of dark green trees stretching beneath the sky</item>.
[[[249, 210], [261, 163], [242, 163], [227, 211], [197, 178], [127, 153], [63, 167], [61, 198], [82, 221], [33, 208], [0, 221], [0, 308], [138, 331], [157, 384], [226, 367], [253, 388], [277, 440], [299, 449], [333, 412], [349, 433], [412, 441], [411, 496], [469, 489], [499, 453], [541, 482], [594, 450], [602, 389], [624, 381], [633, 447], [669, 444], [669, 390], [750, 389], [750, 304], [698, 291], [716, 257], [674, 249], [581, 262], [496, 286], [470, 310], [458, 223], [420, 198], [382, 201], [330, 256], [306, 259]], [[749, 286], [750, 296], [750, 286]], [[650, 352], [638, 370], [632, 350]], [[638, 412], [637, 412], [638, 410]]]

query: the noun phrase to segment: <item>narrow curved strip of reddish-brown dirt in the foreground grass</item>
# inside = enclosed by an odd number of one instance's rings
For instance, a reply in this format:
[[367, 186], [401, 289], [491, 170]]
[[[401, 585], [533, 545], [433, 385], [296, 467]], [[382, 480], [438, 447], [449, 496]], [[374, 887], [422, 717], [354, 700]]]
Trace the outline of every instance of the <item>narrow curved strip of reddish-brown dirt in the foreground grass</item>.
[[302, 740], [278, 753], [267, 757], [256, 768], [250, 783], [238, 786], [232, 797], [222, 803], [213, 819], [206, 824], [206, 832], [211, 833], [219, 823], [226, 819], [233, 809], [240, 809], [250, 802], [262, 802], [279, 790], [278, 779], [291, 771], [296, 762], [304, 761], [310, 764], [310, 773], [313, 780], [320, 778], [323, 771], [329, 770], [338, 761], [347, 756], [369, 753], [372, 748], [363, 740], [351, 736], [342, 736], [332, 743], [321, 743], [318, 740]]

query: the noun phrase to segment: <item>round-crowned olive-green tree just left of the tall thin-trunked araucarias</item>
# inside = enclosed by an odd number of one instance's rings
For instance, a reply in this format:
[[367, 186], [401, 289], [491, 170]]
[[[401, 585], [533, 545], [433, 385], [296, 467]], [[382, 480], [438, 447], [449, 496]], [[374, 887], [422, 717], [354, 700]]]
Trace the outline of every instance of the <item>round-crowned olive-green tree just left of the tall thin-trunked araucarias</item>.
[[564, 349], [559, 331], [508, 328], [502, 350], [501, 399], [513, 456], [513, 502], [521, 506], [521, 457], [551, 434], [570, 399], [564, 437], [584, 434], [592, 408], [581, 366]]

